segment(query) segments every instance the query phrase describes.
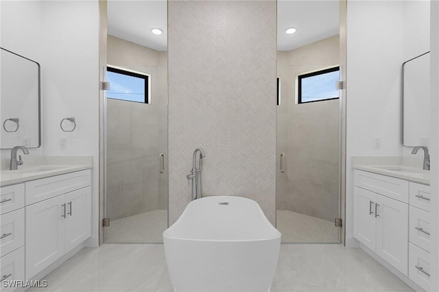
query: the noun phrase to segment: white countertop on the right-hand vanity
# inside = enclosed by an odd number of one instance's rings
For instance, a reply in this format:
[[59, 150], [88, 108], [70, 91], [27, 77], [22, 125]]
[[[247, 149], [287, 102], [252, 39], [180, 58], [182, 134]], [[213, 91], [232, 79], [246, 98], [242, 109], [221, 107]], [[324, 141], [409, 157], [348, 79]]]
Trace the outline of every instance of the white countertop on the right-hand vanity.
[[379, 173], [382, 175], [410, 180], [420, 184], [430, 184], [430, 171], [425, 171], [417, 167], [407, 167], [402, 165], [354, 165], [354, 169]]

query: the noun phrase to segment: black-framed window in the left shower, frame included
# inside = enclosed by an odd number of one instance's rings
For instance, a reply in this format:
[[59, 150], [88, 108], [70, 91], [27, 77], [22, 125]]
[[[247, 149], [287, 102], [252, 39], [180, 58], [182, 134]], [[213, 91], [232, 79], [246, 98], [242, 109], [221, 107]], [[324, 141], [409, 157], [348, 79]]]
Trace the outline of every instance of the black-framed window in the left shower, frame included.
[[110, 82], [108, 98], [150, 104], [150, 75], [107, 66], [107, 80]]

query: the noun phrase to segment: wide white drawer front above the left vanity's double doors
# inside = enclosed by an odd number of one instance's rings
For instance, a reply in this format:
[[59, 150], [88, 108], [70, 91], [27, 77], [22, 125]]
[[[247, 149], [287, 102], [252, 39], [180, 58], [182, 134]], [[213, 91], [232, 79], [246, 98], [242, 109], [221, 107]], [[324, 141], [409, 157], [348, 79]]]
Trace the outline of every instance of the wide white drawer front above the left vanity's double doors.
[[90, 169], [26, 182], [25, 204], [27, 206], [63, 193], [75, 191], [78, 188], [84, 188], [89, 186], [90, 182]]

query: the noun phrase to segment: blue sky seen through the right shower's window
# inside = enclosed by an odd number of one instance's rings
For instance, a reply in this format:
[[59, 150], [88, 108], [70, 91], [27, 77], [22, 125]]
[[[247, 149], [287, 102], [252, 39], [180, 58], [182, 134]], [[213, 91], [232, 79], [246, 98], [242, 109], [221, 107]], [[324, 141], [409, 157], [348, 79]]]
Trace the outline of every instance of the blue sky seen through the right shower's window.
[[340, 80], [340, 71], [302, 78], [302, 102], [333, 99], [339, 97], [335, 82]]

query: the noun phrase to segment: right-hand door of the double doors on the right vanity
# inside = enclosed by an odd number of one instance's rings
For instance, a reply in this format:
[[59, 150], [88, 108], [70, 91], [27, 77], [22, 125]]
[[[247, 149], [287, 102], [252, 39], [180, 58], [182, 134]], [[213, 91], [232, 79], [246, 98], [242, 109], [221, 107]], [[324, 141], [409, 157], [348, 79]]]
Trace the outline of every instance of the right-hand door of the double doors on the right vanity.
[[407, 276], [409, 207], [377, 195], [377, 254]]

